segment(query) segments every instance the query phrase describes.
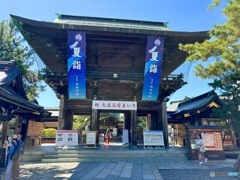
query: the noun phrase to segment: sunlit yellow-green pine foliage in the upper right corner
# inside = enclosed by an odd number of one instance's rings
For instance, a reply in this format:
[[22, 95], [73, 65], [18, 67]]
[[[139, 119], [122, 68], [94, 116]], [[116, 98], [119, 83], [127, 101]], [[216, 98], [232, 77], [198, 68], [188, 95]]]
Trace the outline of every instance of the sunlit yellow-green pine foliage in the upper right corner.
[[[209, 7], [217, 7], [220, 2], [214, 0]], [[179, 45], [180, 50], [189, 54], [187, 61], [201, 62], [195, 70], [200, 78], [215, 78], [229, 71], [240, 71], [240, 1], [228, 0], [222, 13], [227, 21], [214, 25], [209, 31], [210, 39], [203, 43]]]

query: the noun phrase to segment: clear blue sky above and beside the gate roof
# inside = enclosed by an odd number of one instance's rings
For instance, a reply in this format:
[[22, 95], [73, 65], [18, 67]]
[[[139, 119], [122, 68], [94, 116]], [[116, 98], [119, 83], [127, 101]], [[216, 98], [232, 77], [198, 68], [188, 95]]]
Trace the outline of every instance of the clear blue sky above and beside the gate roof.
[[[29, 19], [53, 22], [56, 14], [119, 18], [168, 22], [173, 31], [205, 31], [214, 24], [225, 21], [221, 9], [208, 10], [211, 0], [1, 0], [0, 20], [9, 19], [9, 14]], [[210, 80], [200, 80], [194, 75], [194, 64], [181, 68], [188, 72], [187, 85], [170, 96], [171, 101], [195, 97], [210, 91]], [[40, 105], [58, 107], [59, 100], [53, 91], [47, 88], [38, 98]]]

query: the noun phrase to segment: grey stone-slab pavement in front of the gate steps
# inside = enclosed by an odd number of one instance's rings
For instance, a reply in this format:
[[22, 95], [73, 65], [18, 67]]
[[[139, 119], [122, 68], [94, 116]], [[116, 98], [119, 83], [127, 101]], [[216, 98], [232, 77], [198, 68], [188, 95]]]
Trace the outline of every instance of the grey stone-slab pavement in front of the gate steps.
[[[106, 179], [106, 180], [141, 180], [163, 179], [160, 172], [167, 170], [209, 170], [218, 172], [218, 169], [234, 166], [235, 159], [212, 160], [203, 165], [197, 161], [183, 162], [69, 162], [69, 163], [21, 163], [20, 179]], [[205, 171], [203, 171], [205, 172]], [[210, 177], [210, 173], [205, 176]], [[164, 178], [168, 179], [168, 178]], [[176, 177], [176, 179], [178, 179]], [[192, 178], [194, 179], [194, 178]]]

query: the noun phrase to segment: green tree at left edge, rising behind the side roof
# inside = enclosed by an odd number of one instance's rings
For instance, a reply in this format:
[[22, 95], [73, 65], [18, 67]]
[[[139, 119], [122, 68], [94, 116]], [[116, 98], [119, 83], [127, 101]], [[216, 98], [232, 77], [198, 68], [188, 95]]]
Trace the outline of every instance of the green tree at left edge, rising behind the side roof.
[[34, 65], [34, 51], [24, 41], [12, 20], [0, 22], [0, 61], [15, 60], [22, 71], [24, 89], [29, 100], [35, 100], [45, 90]]

